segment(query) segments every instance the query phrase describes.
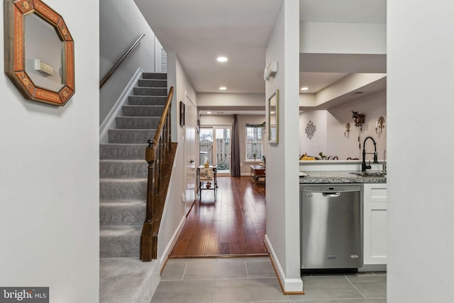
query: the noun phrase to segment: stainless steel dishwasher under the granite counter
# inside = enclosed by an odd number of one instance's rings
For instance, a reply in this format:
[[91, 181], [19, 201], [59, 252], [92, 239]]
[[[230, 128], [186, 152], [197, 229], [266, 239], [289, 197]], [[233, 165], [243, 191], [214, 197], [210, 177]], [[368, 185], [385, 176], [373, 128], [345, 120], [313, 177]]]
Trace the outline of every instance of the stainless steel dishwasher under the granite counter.
[[301, 270], [362, 267], [362, 184], [300, 184]]

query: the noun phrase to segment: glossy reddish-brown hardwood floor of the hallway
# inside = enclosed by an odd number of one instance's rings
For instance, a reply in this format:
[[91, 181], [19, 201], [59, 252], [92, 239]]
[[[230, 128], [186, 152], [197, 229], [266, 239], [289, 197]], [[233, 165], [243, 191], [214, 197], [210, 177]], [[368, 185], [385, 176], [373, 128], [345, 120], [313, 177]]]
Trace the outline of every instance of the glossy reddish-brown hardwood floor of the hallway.
[[265, 215], [264, 184], [218, 177], [216, 201], [213, 190], [202, 190], [170, 258], [267, 254]]

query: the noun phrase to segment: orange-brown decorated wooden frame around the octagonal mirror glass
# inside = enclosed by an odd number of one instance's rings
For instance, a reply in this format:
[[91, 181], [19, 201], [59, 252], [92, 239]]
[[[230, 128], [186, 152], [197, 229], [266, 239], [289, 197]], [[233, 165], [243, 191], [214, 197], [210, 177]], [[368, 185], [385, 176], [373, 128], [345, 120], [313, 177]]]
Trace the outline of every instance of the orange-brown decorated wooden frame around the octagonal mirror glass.
[[[26, 72], [25, 17], [35, 13], [55, 28], [62, 41], [62, 87], [58, 92], [36, 86]], [[74, 87], [74, 41], [62, 16], [40, 0], [4, 0], [5, 74], [24, 98], [62, 106]]]

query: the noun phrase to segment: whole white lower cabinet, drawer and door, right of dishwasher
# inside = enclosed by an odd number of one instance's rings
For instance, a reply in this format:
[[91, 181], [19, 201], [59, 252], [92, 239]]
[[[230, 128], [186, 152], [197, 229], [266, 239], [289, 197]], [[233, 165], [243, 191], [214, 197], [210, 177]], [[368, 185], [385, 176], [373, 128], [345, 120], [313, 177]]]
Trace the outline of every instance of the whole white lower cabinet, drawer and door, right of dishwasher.
[[363, 202], [364, 265], [386, 264], [386, 183], [365, 183]]

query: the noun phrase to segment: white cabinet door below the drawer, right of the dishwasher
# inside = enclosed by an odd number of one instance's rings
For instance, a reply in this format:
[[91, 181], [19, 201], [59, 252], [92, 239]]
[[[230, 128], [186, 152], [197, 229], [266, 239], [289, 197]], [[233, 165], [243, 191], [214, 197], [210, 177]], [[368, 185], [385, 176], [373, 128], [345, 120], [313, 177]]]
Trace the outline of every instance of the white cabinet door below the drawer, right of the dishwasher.
[[386, 202], [365, 202], [363, 221], [364, 264], [386, 264]]

